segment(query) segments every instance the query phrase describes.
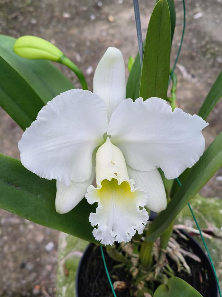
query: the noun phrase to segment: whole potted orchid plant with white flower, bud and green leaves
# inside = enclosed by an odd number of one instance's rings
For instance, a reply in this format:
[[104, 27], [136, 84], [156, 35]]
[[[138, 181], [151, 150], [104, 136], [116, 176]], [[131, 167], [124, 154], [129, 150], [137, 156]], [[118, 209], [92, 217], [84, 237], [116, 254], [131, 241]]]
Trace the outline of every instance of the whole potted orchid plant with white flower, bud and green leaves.
[[[119, 261], [123, 255], [115, 243], [124, 248], [127, 242], [136, 242], [133, 250], [138, 260], [130, 262], [138, 269], [135, 284], [147, 279], [144, 268], [150, 267], [150, 273], [161, 275], [162, 283], [151, 293], [146, 285], [138, 286], [137, 296], [182, 296], [174, 289], [178, 286], [183, 296], [201, 296], [186, 282], [168, 279], [169, 271], [166, 275], [154, 267], [152, 250], [158, 250], [156, 261], [164, 268], [163, 255], [176, 215], [222, 165], [221, 134], [205, 152], [202, 135], [208, 125], [205, 119], [221, 93], [209, 95], [198, 115], [175, 108], [175, 96], [167, 97], [173, 8], [169, 10], [166, 0], [154, 7], [142, 72], [138, 56], [126, 86], [121, 51], [109, 47], [97, 65], [93, 92], [87, 90], [82, 72], [55, 45], [38, 37], [15, 41], [1, 36], [1, 69], [9, 75], [0, 84], [6, 83], [14, 92], [7, 91], [0, 103], [25, 131], [18, 144], [21, 163], [1, 155], [0, 206], [107, 245], [109, 255]], [[52, 64], [39, 59], [71, 68], [83, 89], [74, 88]], [[43, 68], [51, 71], [51, 80]], [[213, 90], [221, 75], [219, 80]], [[47, 94], [49, 87], [55, 96]], [[24, 96], [18, 98], [16, 88]], [[178, 190], [173, 179], [179, 176], [183, 184]], [[173, 185], [171, 194], [166, 191], [167, 180]], [[159, 213], [151, 224], [150, 211]]]

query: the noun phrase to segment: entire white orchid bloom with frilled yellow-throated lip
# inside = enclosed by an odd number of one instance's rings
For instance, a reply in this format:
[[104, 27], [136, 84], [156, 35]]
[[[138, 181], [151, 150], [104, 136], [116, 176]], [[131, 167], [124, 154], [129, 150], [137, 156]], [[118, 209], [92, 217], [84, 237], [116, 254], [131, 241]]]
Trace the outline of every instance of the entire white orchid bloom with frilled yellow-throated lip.
[[166, 208], [157, 168], [173, 179], [194, 165], [208, 125], [179, 108], [172, 112], [161, 98], [133, 102], [125, 92], [122, 54], [109, 47], [96, 68], [93, 93], [74, 89], [49, 101], [18, 145], [28, 170], [57, 180], [58, 213], [67, 213], [84, 196], [98, 203], [89, 220], [104, 244], [142, 233], [148, 220], [144, 205], [155, 212]]

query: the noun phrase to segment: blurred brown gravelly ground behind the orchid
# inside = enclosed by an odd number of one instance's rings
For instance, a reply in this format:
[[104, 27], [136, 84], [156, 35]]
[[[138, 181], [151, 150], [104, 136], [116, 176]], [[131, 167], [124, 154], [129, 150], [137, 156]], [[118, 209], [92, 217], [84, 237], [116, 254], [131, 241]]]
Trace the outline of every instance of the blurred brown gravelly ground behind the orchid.
[[[145, 37], [154, 1], [139, 1]], [[182, 32], [183, 5], [175, 0], [177, 22], [172, 45], [175, 60]], [[181, 107], [197, 113], [222, 69], [222, 0], [187, 0], [187, 25], [175, 72]], [[58, 46], [86, 76], [89, 88], [96, 65], [108, 46], [121, 49], [127, 61], [138, 50], [133, 4], [130, 0], [0, 0], [0, 33], [36, 35]], [[79, 86], [75, 75], [60, 66]], [[128, 75], [126, 70], [126, 75]], [[222, 102], [208, 117], [204, 131], [209, 145], [221, 131]], [[0, 151], [19, 158], [22, 130], [0, 109]], [[202, 190], [222, 198], [222, 171]], [[210, 207], [210, 200], [209, 200]], [[0, 296], [54, 296], [59, 232], [0, 210]]]

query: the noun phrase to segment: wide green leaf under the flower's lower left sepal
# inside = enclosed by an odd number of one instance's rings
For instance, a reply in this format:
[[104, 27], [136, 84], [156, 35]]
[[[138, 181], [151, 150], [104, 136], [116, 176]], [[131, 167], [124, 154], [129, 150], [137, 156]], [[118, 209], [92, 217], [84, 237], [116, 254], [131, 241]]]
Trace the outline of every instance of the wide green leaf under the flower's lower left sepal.
[[37, 224], [95, 242], [88, 217], [95, 212], [85, 198], [69, 213], [55, 211], [55, 180], [42, 179], [20, 161], [0, 154], [0, 208]]

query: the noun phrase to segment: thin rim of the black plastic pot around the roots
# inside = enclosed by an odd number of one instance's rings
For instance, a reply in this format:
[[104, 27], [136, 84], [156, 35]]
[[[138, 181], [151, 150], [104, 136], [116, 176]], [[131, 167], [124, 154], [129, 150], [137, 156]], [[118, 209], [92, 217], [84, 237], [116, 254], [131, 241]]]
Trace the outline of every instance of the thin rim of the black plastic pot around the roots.
[[[210, 288], [211, 288], [211, 295], [206, 296], [206, 297], [218, 297], [219, 291], [217, 288], [216, 278], [214, 276], [213, 269], [212, 269], [211, 263], [208, 259], [208, 256], [205, 254], [204, 250], [201, 248], [199, 243], [197, 243], [195, 241], [195, 239], [193, 239], [193, 237], [191, 237], [184, 230], [180, 230], [180, 232], [187, 237], [187, 239], [189, 240], [188, 241], [189, 247], [193, 250], [193, 252], [196, 255], [199, 256], [199, 258], [201, 260], [202, 267], [207, 272], [208, 283], [210, 284]], [[80, 293], [80, 288], [82, 287], [82, 285], [80, 283], [80, 275], [81, 275], [81, 273], [83, 273], [83, 266], [84, 266], [84, 264], [88, 263], [88, 257], [92, 253], [94, 247], [95, 247], [95, 244], [89, 243], [89, 245], [85, 249], [84, 254], [80, 260], [80, 263], [79, 263], [79, 266], [77, 269], [77, 273], [76, 273], [76, 297], [82, 297], [81, 293]]]

